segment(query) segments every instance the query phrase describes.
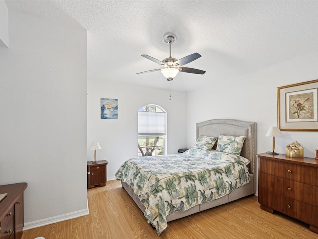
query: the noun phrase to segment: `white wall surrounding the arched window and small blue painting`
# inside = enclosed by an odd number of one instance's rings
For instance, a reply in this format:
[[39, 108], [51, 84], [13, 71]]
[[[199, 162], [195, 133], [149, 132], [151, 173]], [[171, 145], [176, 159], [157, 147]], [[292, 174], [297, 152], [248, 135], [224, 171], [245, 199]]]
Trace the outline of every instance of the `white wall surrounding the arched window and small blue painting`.
[[[161, 80], [161, 79], [160, 79]], [[120, 165], [137, 157], [137, 111], [155, 104], [167, 111], [167, 152], [177, 153], [186, 146], [186, 93], [134, 86], [115, 81], [88, 79], [87, 161], [94, 160], [89, 150], [98, 141], [101, 150], [96, 160], [107, 160], [107, 178], [115, 179]], [[118, 99], [118, 119], [100, 119], [100, 98]]]

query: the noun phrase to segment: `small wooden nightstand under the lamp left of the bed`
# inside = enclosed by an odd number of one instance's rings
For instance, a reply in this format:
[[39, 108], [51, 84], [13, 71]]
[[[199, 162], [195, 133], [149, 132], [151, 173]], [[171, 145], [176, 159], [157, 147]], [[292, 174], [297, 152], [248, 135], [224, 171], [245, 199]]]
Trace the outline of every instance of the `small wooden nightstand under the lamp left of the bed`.
[[87, 162], [87, 187], [105, 186], [107, 182], [107, 164], [106, 160], [97, 163]]

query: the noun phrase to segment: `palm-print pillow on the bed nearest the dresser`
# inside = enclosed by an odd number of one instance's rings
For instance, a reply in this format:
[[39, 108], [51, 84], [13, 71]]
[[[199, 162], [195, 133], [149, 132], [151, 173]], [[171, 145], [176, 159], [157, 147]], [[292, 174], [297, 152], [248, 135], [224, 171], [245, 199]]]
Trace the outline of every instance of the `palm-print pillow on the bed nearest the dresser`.
[[245, 138], [245, 136], [230, 136], [220, 134], [217, 144], [217, 151], [240, 156]]

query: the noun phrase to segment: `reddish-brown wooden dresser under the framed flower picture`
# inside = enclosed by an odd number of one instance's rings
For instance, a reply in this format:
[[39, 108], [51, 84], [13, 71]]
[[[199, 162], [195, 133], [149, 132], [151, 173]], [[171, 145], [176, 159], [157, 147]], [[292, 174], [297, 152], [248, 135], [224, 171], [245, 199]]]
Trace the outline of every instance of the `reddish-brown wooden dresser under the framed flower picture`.
[[296, 218], [318, 233], [318, 160], [290, 158], [284, 154], [257, 156], [261, 209]]

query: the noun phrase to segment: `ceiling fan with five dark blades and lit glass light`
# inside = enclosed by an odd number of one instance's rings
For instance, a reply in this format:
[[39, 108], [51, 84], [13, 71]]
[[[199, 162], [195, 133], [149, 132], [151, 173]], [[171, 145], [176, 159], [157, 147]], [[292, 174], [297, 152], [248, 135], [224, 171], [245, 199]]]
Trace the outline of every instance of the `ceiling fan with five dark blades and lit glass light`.
[[189, 67], [183, 67], [183, 65], [188, 64], [198, 58], [201, 57], [199, 53], [193, 53], [191, 55], [185, 56], [181, 59], [175, 59], [171, 56], [171, 44], [176, 40], [176, 35], [173, 33], [166, 33], [163, 36], [163, 41], [165, 43], [169, 44], [169, 50], [170, 50], [170, 56], [168, 58], [163, 59], [162, 61], [157, 60], [154, 57], [148, 56], [148, 55], [141, 55], [148, 60], [151, 60], [164, 68], [161, 69], [155, 69], [155, 70], [150, 70], [150, 71], [143, 71], [136, 73], [137, 75], [139, 74], [144, 74], [148, 72], [153, 72], [153, 71], [161, 71], [163, 76], [167, 78], [168, 81], [172, 81], [173, 78], [178, 74], [178, 72], [186, 72], [186, 73], [194, 73], [194, 74], [201, 74], [203, 75], [205, 71], [199, 70], [199, 69], [194, 69], [194, 68], [189, 68]]

